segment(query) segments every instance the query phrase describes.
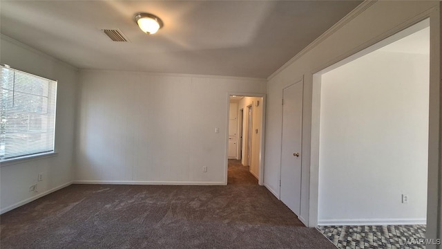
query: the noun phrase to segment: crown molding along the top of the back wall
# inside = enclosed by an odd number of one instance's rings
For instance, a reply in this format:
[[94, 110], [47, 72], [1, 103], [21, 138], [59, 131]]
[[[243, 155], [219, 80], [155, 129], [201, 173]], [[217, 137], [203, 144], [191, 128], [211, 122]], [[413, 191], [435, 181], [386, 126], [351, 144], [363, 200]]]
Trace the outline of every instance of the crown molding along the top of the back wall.
[[213, 78], [213, 79], [222, 79], [222, 80], [254, 80], [256, 82], [267, 82], [266, 78], [258, 78], [258, 77], [240, 77], [240, 76], [224, 76], [224, 75], [198, 75], [198, 74], [188, 74], [188, 73], [155, 73], [155, 72], [145, 72], [145, 71], [126, 71], [126, 70], [108, 70], [108, 69], [89, 69], [89, 68], [80, 68], [80, 71], [84, 72], [122, 72], [122, 73], [142, 73], [147, 74], [149, 76], [171, 76], [171, 77], [202, 77], [202, 78]]

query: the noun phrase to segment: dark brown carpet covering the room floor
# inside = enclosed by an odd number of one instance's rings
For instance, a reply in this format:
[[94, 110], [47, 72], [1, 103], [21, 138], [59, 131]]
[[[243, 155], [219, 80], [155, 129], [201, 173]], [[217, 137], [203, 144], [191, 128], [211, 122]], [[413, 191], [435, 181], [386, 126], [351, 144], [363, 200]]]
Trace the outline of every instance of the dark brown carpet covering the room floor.
[[335, 248], [229, 165], [227, 186], [70, 185], [2, 214], [6, 248]]

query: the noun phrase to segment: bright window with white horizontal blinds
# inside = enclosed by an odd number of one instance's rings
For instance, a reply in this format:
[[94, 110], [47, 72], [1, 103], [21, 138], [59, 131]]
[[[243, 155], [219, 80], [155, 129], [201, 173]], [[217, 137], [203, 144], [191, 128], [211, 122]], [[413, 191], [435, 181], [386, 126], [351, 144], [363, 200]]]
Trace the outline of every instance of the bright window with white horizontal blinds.
[[57, 82], [0, 66], [0, 160], [54, 151]]

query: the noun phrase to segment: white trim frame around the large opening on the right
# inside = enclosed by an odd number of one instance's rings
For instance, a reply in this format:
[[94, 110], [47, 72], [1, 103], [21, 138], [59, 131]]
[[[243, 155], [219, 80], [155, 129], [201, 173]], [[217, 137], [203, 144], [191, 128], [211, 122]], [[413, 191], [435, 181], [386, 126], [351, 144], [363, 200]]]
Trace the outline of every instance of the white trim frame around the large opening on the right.
[[[423, 12], [421, 15], [413, 17], [396, 26], [388, 33], [384, 33], [380, 37], [376, 37], [376, 40], [372, 40], [370, 44], [365, 45], [356, 52], [350, 52], [345, 57], [338, 57], [327, 64], [320, 66], [317, 70], [311, 73], [311, 79], [313, 83], [312, 89], [312, 101], [311, 101], [311, 143], [310, 143], [310, 188], [309, 188], [309, 216], [308, 226], [315, 227], [318, 225], [318, 186], [319, 186], [319, 138], [320, 138], [320, 86], [321, 75], [325, 71], [332, 70], [340, 66], [340, 63], [347, 63], [353, 59], [361, 57], [367, 53], [370, 53], [377, 48], [390, 44], [401, 37], [410, 35], [410, 28], [419, 24], [421, 21], [429, 19], [430, 23], [430, 117], [429, 117], [429, 134], [428, 134], [428, 178], [427, 178], [427, 238], [436, 238], [440, 234], [440, 230], [437, 228], [437, 223], [441, 222], [442, 210], [440, 194], [442, 192], [441, 187], [441, 174], [440, 168], [439, 145], [440, 138], [440, 120], [441, 115], [440, 101], [441, 101], [441, 48], [440, 48], [440, 28], [441, 19], [439, 16], [439, 10], [431, 10], [429, 12]], [[442, 208], [441, 208], [442, 209]], [[438, 234], [439, 233], [439, 234]], [[434, 248], [434, 247], [432, 247]]]

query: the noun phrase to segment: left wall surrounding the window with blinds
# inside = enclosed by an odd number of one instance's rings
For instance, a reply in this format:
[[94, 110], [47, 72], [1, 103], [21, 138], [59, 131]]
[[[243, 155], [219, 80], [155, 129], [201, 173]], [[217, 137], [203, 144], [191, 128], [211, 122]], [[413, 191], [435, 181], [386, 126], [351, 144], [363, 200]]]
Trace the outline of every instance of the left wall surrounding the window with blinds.
[[[3, 35], [0, 42], [1, 64], [58, 81], [55, 126], [58, 154], [1, 165], [1, 212], [6, 212], [73, 181], [77, 69]], [[37, 181], [39, 173], [43, 173], [43, 181]], [[29, 192], [29, 187], [35, 184], [38, 193]]]

